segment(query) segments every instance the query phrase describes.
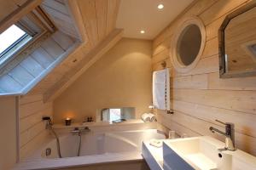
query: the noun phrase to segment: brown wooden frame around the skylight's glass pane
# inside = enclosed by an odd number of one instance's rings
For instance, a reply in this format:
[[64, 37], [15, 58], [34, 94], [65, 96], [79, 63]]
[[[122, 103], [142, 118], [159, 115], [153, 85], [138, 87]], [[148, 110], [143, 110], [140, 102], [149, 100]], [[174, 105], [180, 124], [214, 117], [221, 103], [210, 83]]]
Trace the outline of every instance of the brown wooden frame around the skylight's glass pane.
[[[45, 18], [48, 18], [48, 16], [45, 14], [44, 10], [38, 6], [30, 13], [24, 15], [20, 20], [16, 21], [16, 23], [13, 23], [13, 25], [18, 26], [32, 38], [26, 43], [21, 44], [20, 48], [15, 49], [13, 54], [9, 56], [3, 55], [3, 58], [1, 55], [0, 76], [13, 69], [15, 65], [18, 65], [20, 60], [25, 59], [30, 51], [38, 48], [41, 42], [57, 30], [55, 24], [51, 22], [51, 20], [45, 20]], [[30, 20], [30, 22], [27, 23], [27, 20]], [[9, 65], [10, 62], [11, 64]]]

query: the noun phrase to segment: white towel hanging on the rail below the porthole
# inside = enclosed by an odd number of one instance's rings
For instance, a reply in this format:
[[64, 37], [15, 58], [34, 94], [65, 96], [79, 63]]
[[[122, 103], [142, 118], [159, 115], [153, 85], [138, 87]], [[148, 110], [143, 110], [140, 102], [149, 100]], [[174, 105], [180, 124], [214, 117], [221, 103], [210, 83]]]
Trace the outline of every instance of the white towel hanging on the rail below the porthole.
[[169, 69], [153, 73], [154, 108], [170, 111], [170, 77]]

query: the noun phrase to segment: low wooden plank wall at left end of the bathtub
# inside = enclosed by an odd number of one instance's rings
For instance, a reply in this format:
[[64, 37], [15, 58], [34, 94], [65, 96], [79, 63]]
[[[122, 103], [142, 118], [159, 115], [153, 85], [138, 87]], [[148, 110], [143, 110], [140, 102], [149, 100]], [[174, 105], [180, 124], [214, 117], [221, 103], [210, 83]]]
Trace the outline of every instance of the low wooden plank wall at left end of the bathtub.
[[52, 102], [44, 103], [43, 95], [20, 97], [20, 158], [29, 156], [39, 144], [47, 139], [49, 131], [45, 129], [42, 116], [52, 116]]

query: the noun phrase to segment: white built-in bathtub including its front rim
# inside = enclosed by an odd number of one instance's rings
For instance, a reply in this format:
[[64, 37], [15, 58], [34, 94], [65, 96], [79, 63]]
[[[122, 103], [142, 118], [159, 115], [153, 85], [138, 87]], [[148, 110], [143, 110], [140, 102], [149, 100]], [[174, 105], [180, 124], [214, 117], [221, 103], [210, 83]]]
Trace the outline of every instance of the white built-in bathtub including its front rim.
[[141, 156], [143, 141], [165, 138], [164, 133], [156, 129], [105, 133], [92, 131], [82, 134], [80, 155], [78, 156], [79, 136], [72, 133], [61, 133], [62, 158], [59, 158], [57, 154], [56, 140], [52, 139], [44, 144], [37, 156], [33, 156], [33, 160], [20, 162], [15, 169], [58, 169], [106, 162], [143, 160]]

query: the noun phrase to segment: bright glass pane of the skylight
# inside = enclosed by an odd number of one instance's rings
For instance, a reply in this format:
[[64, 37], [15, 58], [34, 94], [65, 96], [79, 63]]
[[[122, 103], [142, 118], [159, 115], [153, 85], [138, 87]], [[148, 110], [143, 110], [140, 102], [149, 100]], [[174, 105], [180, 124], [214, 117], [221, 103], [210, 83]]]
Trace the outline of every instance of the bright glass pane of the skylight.
[[0, 65], [32, 39], [30, 35], [12, 25], [0, 34]]

